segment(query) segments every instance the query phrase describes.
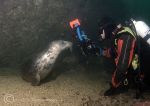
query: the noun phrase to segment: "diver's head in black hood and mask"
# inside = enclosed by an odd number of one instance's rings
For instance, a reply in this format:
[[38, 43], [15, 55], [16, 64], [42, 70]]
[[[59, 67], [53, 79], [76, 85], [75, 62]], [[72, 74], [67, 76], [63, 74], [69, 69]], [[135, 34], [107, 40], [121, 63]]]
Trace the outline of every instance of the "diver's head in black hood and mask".
[[116, 29], [117, 24], [109, 17], [104, 17], [98, 22], [99, 40], [109, 40], [112, 38], [113, 31]]

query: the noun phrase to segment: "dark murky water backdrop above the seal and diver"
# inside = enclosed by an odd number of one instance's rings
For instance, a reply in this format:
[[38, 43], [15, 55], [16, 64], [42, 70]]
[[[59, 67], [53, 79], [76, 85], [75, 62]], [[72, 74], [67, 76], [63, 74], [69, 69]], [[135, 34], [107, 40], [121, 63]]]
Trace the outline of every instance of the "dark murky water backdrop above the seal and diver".
[[[150, 25], [149, 4], [149, 0], [0, 0], [0, 67], [22, 66], [52, 40], [72, 41], [68, 23], [76, 17], [94, 40], [97, 22], [104, 16], [121, 22], [133, 17]], [[78, 51], [74, 48], [80, 58]], [[149, 70], [150, 49], [144, 44], [142, 51]]]

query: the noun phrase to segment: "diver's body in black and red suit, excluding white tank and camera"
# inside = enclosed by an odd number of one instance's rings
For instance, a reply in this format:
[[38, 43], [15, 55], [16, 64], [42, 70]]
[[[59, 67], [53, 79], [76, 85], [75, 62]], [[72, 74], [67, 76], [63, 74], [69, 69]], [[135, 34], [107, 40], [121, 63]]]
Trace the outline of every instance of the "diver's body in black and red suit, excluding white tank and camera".
[[126, 92], [133, 81], [136, 85], [136, 98], [142, 97], [144, 72], [140, 70], [139, 37], [133, 21], [122, 25], [105, 17], [98, 25], [99, 40], [116, 65], [112, 73], [110, 88], [105, 91], [104, 95], [111, 96]]

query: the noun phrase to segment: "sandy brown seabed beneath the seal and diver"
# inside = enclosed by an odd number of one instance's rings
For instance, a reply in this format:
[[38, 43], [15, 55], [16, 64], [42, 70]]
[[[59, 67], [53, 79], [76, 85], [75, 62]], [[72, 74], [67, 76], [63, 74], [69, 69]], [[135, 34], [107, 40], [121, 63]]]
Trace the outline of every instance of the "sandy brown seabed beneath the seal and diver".
[[109, 87], [104, 72], [68, 70], [55, 80], [31, 86], [22, 80], [19, 71], [0, 69], [0, 106], [150, 106], [149, 94], [144, 95], [146, 99], [136, 100], [132, 90], [103, 96]]

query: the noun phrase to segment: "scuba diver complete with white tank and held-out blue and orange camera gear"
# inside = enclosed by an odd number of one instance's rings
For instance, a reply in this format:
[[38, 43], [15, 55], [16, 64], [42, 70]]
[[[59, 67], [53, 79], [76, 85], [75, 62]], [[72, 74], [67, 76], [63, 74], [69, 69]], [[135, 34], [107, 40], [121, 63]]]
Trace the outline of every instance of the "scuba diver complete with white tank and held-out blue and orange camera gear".
[[[115, 23], [108, 17], [103, 18], [98, 25], [98, 38], [103, 47], [98, 47], [85, 35], [78, 19], [70, 22], [70, 27], [75, 33], [75, 38], [79, 42], [84, 56], [96, 55], [114, 59], [116, 66], [112, 74], [110, 88], [104, 95], [111, 96], [126, 92], [129, 84], [134, 82], [136, 98], [142, 97], [144, 72], [140, 70], [138, 36], [145, 38], [150, 44], [150, 28], [141, 21], [132, 19], [122, 25]], [[143, 29], [139, 28], [140, 26], [143, 26]]]

